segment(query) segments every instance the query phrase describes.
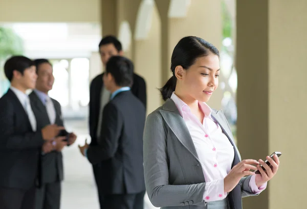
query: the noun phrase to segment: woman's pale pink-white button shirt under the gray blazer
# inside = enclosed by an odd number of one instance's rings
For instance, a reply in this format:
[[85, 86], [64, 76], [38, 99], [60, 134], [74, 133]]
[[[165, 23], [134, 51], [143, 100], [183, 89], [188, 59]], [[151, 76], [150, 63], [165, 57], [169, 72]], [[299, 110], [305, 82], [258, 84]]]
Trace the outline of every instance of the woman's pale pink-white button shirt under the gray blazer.
[[[211, 108], [205, 102], [199, 102], [199, 107], [205, 114], [203, 124], [191, 113], [189, 106], [176, 94], [171, 99], [176, 104], [183, 117], [196, 152], [201, 162], [206, 181], [204, 200], [206, 202], [226, 198], [224, 193], [224, 178], [231, 170], [234, 159], [234, 148], [220, 125], [211, 117]], [[250, 187], [254, 193], [265, 188], [257, 188], [254, 176], [250, 180]]]

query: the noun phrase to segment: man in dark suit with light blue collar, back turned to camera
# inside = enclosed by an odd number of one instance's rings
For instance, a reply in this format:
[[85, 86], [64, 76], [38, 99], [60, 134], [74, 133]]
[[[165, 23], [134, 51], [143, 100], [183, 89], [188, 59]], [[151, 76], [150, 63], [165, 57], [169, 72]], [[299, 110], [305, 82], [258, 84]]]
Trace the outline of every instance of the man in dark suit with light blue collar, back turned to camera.
[[142, 209], [145, 184], [143, 170], [143, 129], [146, 111], [130, 91], [133, 64], [113, 56], [106, 64], [104, 87], [111, 100], [103, 109], [98, 145], [80, 147], [92, 164], [99, 165], [101, 208]]

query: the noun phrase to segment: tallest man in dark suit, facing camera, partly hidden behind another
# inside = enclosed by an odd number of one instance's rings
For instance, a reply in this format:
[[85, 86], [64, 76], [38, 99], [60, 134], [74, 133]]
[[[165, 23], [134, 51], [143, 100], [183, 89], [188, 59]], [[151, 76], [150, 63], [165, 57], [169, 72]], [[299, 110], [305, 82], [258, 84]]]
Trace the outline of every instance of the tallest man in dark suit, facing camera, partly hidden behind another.
[[[99, 43], [99, 53], [101, 57], [102, 64], [105, 65], [109, 58], [112, 56], [122, 56], [122, 45], [120, 41], [114, 36], [105, 36]], [[109, 101], [111, 96], [110, 92], [104, 88], [103, 85], [103, 73], [97, 75], [90, 86], [90, 136], [91, 136], [91, 146], [97, 145], [97, 138], [100, 137], [100, 127], [102, 121], [102, 110], [105, 104]], [[146, 84], [144, 79], [133, 73], [133, 85], [131, 86], [131, 92], [140, 99], [146, 108]], [[94, 177], [96, 184], [98, 184], [99, 168], [97, 165], [93, 165]], [[99, 189], [99, 188], [98, 188]], [[98, 191], [99, 193], [99, 191]], [[101, 198], [99, 197], [99, 202]]]

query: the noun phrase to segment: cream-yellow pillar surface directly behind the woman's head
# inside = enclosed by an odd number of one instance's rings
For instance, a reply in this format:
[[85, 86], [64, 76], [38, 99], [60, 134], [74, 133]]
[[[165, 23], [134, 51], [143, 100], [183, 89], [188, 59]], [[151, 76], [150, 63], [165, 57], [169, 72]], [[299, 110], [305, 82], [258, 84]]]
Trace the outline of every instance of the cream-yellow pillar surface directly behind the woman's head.
[[[210, 9], [206, 9], [210, 8]], [[198, 36], [222, 48], [222, 10], [220, 1], [193, 0], [186, 18], [170, 18], [169, 21], [169, 63], [173, 48], [184, 36]], [[169, 76], [171, 76], [169, 70]], [[214, 109], [221, 108], [223, 92], [217, 88], [208, 101]]]

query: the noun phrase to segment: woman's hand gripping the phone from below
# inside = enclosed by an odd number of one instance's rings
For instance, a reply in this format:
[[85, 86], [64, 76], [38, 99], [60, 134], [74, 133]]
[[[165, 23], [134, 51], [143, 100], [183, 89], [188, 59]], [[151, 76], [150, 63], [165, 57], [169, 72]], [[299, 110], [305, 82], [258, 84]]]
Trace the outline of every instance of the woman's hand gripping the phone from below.
[[278, 167], [279, 167], [279, 159], [276, 154], [273, 156], [274, 160], [270, 158], [270, 156], [267, 156], [267, 159], [271, 166], [268, 166], [264, 161], [259, 160], [259, 163], [266, 169], [262, 169], [260, 165], [257, 165], [257, 170], [259, 170], [260, 174], [256, 174], [255, 176], [255, 182], [257, 187], [261, 187], [264, 185], [267, 181], [269, 181], [273, 176], [276, 174]]

